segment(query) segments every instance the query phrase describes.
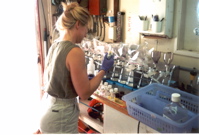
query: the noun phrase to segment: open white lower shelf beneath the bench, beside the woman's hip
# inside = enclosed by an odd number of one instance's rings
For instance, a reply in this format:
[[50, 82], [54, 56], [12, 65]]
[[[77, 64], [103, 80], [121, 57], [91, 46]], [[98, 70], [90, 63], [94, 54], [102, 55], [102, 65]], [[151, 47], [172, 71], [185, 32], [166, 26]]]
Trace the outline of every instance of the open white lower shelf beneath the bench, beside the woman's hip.
[[[87, 105], [89, 103], [89, 100], [80, 100], [80, 101]], [[93, 119], [92, 117], [90, 117], [87, 112], [88, 107], [84, 104], [79, 103], [79, 109], [80, 109], [79, 119], [84, 123], [86, 123], [87, 125], [94, 128], [95, 130], [99, 131], [100, 133], [103, 133], [104, 131], [103, 123], [97, 119]]]

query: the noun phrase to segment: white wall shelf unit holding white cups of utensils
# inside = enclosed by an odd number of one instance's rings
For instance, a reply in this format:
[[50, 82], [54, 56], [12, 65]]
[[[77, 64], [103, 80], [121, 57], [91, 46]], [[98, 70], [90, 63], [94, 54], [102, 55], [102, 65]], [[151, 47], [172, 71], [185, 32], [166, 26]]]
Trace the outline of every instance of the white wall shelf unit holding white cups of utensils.
[[[160, 36], [164, 38], [173, 37], [173, 16], [174, 16], [174, 0], [139, 0], [139, 15], [147, 16], [148, 31], [140, 31], [139, 33], [146, 36]], [[158, 15], [161, 21], [161, 32], [153, 32], [150, 29], [154, 27], [154, 18], [152, 15]], [[160, 22], [160, 21], [159, 21]], [[156, 28], [156, 27], [155, 27]]]

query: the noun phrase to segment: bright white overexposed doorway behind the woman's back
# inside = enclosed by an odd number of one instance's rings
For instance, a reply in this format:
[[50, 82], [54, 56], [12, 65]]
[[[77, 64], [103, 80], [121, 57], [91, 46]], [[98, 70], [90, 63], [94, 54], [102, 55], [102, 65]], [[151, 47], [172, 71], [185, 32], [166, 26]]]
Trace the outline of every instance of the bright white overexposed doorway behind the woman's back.
[[40, 93], [34, 4], [35, 0], [1, 3], [1, 133], [36, 130]]

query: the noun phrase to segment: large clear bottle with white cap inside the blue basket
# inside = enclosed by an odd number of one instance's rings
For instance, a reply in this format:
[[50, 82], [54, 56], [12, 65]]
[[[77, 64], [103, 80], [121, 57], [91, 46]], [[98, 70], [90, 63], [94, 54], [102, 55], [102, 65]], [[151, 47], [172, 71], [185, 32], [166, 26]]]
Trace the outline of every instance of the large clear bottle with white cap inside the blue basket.
[[163, 117], [178, 123], [184, 123], [188, 120], [188, 110], [181, 104], [180, 94], [173, 93], [171, 95], [171, 103], [163, 109]]

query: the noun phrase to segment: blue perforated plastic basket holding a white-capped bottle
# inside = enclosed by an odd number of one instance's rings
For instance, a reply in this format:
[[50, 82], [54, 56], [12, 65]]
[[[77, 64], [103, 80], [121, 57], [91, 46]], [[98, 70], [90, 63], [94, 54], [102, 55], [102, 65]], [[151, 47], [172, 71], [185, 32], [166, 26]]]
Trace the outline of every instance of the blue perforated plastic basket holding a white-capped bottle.
[[[162, 116], [172, 93], [181, 94], [181, 103], [188, 109], [189, 119], [184, 123]], [[161, 133], [190, 133], [192, 128], [199, 128], [199, 96], [154, 83], [124, 95], [122, 99], [129, 115]]]

